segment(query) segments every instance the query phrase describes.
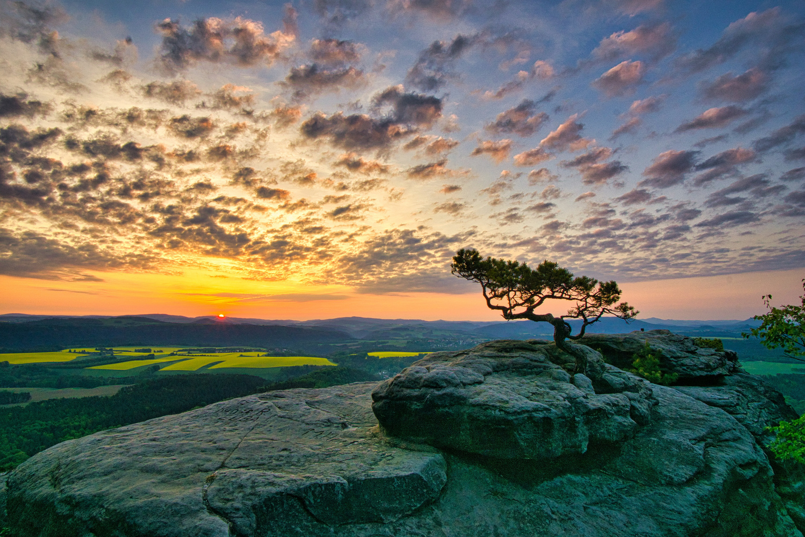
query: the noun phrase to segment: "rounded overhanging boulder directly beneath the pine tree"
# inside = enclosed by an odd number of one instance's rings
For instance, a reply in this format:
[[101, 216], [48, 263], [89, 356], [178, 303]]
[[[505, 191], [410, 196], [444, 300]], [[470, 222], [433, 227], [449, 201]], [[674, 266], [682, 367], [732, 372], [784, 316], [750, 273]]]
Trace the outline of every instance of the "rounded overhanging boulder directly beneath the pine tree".
[[607, 366], [597, 375], [605, 393], [597, 394], [590, 378], [555, 361], [575, 363], [539, 340], [431, 353], [382, 382], [372, 409], [392, 436], [506, 459], [584, 453], [628, 439], [648, 421], [649, 382]]

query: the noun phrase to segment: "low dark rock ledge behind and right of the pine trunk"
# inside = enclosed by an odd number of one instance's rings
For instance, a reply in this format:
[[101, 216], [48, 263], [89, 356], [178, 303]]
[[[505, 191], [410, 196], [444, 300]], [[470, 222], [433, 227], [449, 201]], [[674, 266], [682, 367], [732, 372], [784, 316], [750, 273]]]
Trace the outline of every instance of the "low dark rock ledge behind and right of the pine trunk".
[[598, 350], [607, 363], [629, 370], [634, 353], [649, 342], [657, 354], [663, 373], [679, 375], [679, 382], [696, 382], [708, 377], [733, 374], [738, 357], [731, 350], [717, 351], [697, 346], [691, 337], [668, 330], [648, 330], [628, 334], [587, 334], [578, 342]]

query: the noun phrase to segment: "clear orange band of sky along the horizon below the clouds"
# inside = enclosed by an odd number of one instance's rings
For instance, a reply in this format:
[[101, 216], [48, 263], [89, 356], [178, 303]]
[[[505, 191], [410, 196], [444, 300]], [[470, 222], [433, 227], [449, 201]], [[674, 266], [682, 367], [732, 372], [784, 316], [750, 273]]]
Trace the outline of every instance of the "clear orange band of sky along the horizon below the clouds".
[[[355, 293], [349, 287], [293, 287], [287, 282], [211, 278], [192, 271], [181, 276], [97, 275], [105, 281], [67, 283], [0, 277], [0, 287], [6, 290], [0, 308], [2, 312], [37, 315], [168, 313], [192, 317], [222, 313], [294, 320], [341, 316], [500, 320], [485, 307], [480, 291], [371, 295]], [[761, 295], [771, 294], [775, 305], [798, 302], [803, 276], [800, 270], [764, 271], [621, 283], [621, 289], [623, 299], [640, 310], [638, 318], [743, 320], [765, 311]], [[559, 304], [545, 311], [559, 313], [564, 309]]]

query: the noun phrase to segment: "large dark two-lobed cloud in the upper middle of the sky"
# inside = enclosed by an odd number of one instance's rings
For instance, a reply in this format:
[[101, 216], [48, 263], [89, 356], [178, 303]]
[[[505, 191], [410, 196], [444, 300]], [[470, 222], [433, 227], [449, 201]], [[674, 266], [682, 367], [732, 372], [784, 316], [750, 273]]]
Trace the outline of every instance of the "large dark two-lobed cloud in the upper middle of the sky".
[[432, 126], [442, 116], [442, 101], [420, 93], [404, 93], [402, 86], [392, 86], [374, 97], [378, 108], [388, 105], [390, 114], [373, 118], [367, 114], [327, 116], [321, 112], [302, 123], [306, 138], [329, 138], [345, 149], [384, 149], [395, 141], [415, 134], [419, 127]]

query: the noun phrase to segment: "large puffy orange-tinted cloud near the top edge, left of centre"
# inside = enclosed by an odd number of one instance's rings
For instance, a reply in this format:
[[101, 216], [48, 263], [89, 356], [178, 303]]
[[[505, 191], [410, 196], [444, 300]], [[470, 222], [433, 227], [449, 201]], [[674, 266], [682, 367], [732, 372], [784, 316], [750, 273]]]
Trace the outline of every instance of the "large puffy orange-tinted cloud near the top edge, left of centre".
[[287, 5], [283, 30], [270, 35], [265, 35], [262, 23], [242, 17], [198, 19], [190, 28], [165, 19], [156, 25], [162, 35], [159, 63], [167, 72], [182, 71], [200, 61], [240, 67], [273, 64], [295, 40], [295, 17], [295, 10]]

